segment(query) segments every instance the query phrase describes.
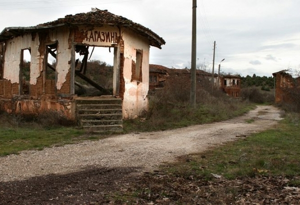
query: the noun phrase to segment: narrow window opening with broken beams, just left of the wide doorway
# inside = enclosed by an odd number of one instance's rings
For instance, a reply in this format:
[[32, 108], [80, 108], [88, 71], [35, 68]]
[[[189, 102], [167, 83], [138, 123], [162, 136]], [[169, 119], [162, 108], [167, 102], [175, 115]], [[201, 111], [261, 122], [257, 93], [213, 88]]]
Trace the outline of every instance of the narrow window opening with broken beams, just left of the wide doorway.
[[46, 46], [46, 79], [55, 80], [57, 42]]

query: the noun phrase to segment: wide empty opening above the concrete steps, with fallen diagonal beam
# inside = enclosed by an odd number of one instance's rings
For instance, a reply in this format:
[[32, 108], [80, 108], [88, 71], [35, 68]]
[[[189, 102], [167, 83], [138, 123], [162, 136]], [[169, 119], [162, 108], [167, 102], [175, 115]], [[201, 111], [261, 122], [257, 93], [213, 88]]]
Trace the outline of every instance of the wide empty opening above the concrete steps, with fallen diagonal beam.
[[112, 95], [113, 47], [75, 46], [75, 94]]

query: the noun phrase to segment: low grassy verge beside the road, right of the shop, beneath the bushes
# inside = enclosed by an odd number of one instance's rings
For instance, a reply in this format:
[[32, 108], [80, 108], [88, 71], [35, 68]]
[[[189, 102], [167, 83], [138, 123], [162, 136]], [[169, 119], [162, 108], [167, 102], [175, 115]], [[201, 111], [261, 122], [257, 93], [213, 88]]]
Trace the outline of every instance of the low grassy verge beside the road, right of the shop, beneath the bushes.
[[[214, 101], [198, 104], [195, 109], [187, 104], [160, 104], [144, 118], [123, 121], [125, 132], [168, 130], [190, 125], [219, 122], [240, 116], [255, 108], [254, 104], [239, 101]], [[151, 113], [152, 112], [152, 113]]]

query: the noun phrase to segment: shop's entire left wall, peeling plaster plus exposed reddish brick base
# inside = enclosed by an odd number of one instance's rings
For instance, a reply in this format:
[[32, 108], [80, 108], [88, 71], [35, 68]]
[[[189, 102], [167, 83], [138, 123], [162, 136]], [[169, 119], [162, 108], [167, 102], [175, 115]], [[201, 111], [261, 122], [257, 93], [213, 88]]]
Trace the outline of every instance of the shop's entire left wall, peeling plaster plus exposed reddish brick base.
[[[36, 113], [42, 110], [58, 110], [72, 118], [71, 98], [60, 98], [45, 95], [45, 86], [54, 84], [43, 83], [45, 67], [45, 46], [57, 42], [56, 52], [56, 90], [57, 93], [70, 92], [70, 59], [71, 43], [66, 28], [52, 28], [40, 32], [32, 32], [14, 37], [5, 42], [3, 92], [0, 92], [0, 108], [8, 113]], [[17, 96], [21, 52], [30, 49], [30, 93], [29, 96]], [[51, 63], [51, 62], [49, 62]], [[53, 93], [54, 94], [54, 93]]]

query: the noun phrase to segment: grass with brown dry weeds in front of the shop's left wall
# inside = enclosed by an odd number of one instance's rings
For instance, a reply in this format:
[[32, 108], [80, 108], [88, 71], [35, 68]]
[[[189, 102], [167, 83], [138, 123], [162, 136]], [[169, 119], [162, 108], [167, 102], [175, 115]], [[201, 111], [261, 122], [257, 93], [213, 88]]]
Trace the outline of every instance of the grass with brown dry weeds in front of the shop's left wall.
[[0, 119], [0, 156], [106, 137], [104, 134], [86, 133], [60, 112], [51, 110], [39, 115], [3, 112], [0, 113]]

